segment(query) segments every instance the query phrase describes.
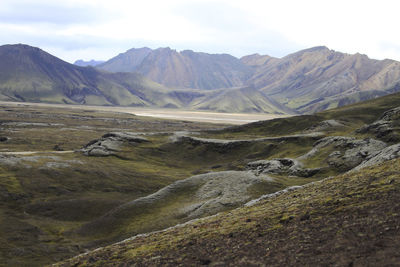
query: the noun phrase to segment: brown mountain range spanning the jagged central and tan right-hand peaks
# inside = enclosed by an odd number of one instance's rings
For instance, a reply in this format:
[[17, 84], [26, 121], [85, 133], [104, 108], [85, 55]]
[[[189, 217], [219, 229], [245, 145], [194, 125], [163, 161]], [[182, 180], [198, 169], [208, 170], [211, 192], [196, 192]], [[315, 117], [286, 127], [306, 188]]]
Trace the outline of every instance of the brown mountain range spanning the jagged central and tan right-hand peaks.
[[[117, 61], [123, 64], [116, 66]], [[299, 113], [383, 96], [397, 91], [400, 80], [397, 61], [374, 60], [324, 46], [283, 58], [253, 54], [240, 59], [169, 48], [131, 49], [98, 67], [108, 71], [139, 72], [175, 88], [209, 90], [251, 86]]]

